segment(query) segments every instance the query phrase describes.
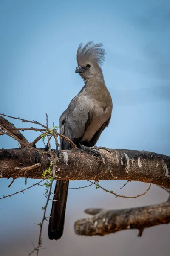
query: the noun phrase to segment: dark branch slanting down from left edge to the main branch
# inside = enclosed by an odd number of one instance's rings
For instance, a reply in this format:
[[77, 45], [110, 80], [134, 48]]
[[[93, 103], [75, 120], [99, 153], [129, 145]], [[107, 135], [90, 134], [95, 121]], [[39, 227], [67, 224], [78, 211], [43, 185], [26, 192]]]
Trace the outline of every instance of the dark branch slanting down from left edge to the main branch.
[[[29, 144], [28, 140], [23, 136], [22, 133], [16, 129], [11, 122], [9, 122], [7, 119], [5, 119], [3, 116], [0, 116], [0, 126], [4, 127], [6, 131], [9, 131], [10, 134], [13, 134], [15, 138], [18, 138], [21, 142], [25, 144]], [[12, 130], [12, 131], [11, 131]]]

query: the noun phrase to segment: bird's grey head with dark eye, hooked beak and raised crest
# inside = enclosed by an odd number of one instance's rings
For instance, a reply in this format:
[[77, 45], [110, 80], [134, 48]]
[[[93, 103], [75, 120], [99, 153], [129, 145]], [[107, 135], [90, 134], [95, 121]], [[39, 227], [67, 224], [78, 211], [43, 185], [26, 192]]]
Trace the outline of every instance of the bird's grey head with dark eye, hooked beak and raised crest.
[[88, 42], [84, 47], [82, 47], [82, 43], [79, 45], [76, 73], [79, 73], [83, 79], [103, 78], [100, 65], [105, 60], [105, 50], [102, 49], [102, 46], [103, 44], [94, 44], [93, 41]]

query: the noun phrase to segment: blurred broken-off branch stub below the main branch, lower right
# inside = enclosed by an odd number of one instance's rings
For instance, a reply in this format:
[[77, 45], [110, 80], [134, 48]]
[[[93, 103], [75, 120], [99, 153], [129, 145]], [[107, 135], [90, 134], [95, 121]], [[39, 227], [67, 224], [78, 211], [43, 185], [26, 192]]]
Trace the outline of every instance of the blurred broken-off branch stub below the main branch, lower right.
[[138, 236], [141, 236], [144, 228], [170, 223], [169, 202], [111, 211], [88, 209], [85, 212], [95, 215], [75, 222], [74, 230], [78, 235], [103, 236], [120, 230], [138, 229]]

